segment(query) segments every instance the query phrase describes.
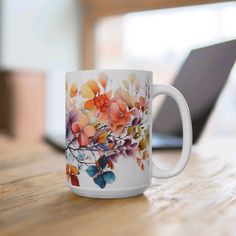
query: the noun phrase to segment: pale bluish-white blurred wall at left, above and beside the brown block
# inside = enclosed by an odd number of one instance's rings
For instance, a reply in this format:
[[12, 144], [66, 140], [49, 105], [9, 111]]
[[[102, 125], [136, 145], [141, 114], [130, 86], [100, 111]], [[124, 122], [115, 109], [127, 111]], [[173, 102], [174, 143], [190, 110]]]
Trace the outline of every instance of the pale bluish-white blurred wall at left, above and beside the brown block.
[[80, 67], [78, 0], [3, 0], [1, 66], [36, 69], [46, 82], [47, 133], [64, 132], [64, 75]]

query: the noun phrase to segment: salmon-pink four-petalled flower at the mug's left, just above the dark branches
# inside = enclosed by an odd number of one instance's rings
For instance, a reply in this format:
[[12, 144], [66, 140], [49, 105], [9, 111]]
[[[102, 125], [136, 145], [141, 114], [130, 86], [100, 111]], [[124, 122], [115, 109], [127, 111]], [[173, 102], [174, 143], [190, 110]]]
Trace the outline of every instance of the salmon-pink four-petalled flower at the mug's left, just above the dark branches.
[[89, 118], [86, 114], [80, 113], [78, 115], [78, 122], [71, 124], [71, 131], [73, 134], [78, 134], [78, 142], [80, 146], [87, 146], [89, 144], [89, 138], [95, 134], [95, 128], [92, 125], [88, 125]]

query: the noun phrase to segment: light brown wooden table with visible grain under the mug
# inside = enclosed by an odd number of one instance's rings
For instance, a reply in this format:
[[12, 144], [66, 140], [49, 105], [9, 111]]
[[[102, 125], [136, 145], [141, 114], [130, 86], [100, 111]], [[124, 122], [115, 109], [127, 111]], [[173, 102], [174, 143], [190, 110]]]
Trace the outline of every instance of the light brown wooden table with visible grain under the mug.
[[[155, 152], [172, 164], [178, 151]], [[236, 139], [193, 150], [179, 176], [153, 179], [144, 195], [78, 197], [63, 154], [44, 143], [0, 144], [0, 235], [235, 235]]]

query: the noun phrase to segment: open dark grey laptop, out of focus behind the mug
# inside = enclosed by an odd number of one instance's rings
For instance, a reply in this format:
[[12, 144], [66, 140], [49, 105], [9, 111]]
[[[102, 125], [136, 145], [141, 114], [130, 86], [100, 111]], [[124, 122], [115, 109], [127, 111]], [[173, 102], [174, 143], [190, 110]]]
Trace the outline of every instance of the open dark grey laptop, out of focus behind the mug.
[[[236, 40], [192, 50], [174, 83], [185, 97], [192, 118], [193, 143], [200, 137], [236, 60]], [[45, 137], [54, 147], [65, 148], [64, 134]], [[177, 105], [167, 97], [153, 122], [153, 149], [182, 148], [182, 123]]]

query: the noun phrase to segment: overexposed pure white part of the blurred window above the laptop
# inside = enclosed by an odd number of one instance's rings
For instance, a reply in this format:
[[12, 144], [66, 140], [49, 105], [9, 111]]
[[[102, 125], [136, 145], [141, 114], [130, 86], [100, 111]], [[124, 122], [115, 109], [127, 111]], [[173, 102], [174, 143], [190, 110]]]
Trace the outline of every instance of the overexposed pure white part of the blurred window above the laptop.
[[127, 14], [124, 53], [131, 60], [158, 62], [162, 57], [236, 38], [235, 22], [236, 3]]

